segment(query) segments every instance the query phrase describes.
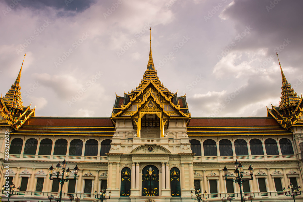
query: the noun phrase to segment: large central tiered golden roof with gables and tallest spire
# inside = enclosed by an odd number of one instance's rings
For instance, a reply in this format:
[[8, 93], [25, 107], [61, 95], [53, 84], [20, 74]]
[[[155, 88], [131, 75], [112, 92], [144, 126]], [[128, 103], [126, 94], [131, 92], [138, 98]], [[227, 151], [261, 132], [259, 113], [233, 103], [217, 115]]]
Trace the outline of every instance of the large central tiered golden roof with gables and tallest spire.
[[[149, 93], [145, 94], [146, 91], [149, 91]], [[159, 94], [161, 99], [156, 99], [156, 94]], [[124, 97], [116, 95], [116, 100], [112, 111], [112, 118], [116, 118], [122, 115], [131, 107], [132, 104], [135, 104], [137, 106], [138, 111], [138, 109], [145, 104], [149, 95], [154, 97], [156, 103], [160, 106], [160, 108], [164, 109], [163, 103], [167, 102], [169, 103], [171, 109], [176, 111], [175, 113], [178, 113], [174, 114], [175, 116], [190, 118], [185, 95], [178, 97], [177, 93], [171, 93], [171, 91], [161, 83], [152, 59], [151, 40], [148, 65], [144, 72], [144, 76], [135, 89], [133, 89], [131, 92], [124, 93]], [[134, 111], [130, 115], [133, 116], [137, 113], [137, 111]], [[171, 112], [169, 111], [164, 110], [164, 113], [168, 116], [171, 116]]]

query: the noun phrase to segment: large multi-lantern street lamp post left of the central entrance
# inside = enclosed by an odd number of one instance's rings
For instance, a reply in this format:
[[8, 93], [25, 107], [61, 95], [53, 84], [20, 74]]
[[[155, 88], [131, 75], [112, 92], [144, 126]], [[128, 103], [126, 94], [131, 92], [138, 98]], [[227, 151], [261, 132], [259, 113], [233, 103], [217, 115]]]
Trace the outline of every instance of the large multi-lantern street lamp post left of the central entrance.
[[[52, 174], [53, 174], [53, 171], [55, 170], [53, 165], [48, 169], [49, 170], [49, 179], [50, 180], [56, 180], [56, 181], [59, 181], [60, 184], [61, 184], [61, 190], [60, 190], [60, 198], [59, 198], [59, 202], [61, 202], [61, 198], [62, 198], [62, 188], [63, 188], [63, 184], [65, 182], [68, 182], [69, 180], [73, 180], [73, 179], [68, 179], [69, 178], [69, 175], [71, 174], [71, 170], [69, 169], [66, 169], [66, 161], [64, 159], [64, 161], [62, 162], [62, 178], [59, 178], [59, 174], [60, 174], [60, 170], [61, 170], [61, 165], [60, 165], [60, 162], [56, 165], [56, 170], [57, 170], [57, 173], [56, 173], [56, 177], [57, 178], [53, 178], [52, 179]], [[65, 171], [66, 170], [66, 171]], [[76, 175], [78, 174], [78, 171], [79, 171], [79, 168], [78, 168], [78, 165], [76, 165], [76, 167], [74, 168], [74, 180], [76, 179]], [[64, 179], [64, 173], [66, 172], [66, 178]], [[56, 199], [57, 200], [57, 199]]]

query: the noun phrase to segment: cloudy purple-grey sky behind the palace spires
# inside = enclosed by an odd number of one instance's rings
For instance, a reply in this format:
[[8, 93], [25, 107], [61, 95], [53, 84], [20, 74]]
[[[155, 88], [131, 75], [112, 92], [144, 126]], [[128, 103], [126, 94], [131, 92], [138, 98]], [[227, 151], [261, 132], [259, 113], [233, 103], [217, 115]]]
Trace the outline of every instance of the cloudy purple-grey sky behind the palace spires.
[[26, 53], [22, 100], [36, 116], [108, 117], [115, 93], [148, 63], [149, 27], [161, 82], [192, 117], [266, 116], [281, 72], [303, 92], [303, 1], [5, 0], [0, 2], [0, 92]]

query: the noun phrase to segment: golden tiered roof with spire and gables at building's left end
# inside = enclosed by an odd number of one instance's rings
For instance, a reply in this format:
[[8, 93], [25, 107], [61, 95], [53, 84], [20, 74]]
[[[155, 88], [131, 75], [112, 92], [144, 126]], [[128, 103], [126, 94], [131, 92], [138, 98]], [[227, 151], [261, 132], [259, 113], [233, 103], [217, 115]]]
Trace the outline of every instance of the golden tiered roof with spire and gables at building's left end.
[[12, 84], [12, 87], [5, 96], [3, 98], [1, 96], [0, 98], [0, 112], [2, 116], [0, 125], [10, 125], [14, 129], [21, 127], [29, 117], [35, 116], [35, 108], [30, 109], [30, 105], [24, 107], [22, 103], [20, 79], [23, 62], [15, 83]]

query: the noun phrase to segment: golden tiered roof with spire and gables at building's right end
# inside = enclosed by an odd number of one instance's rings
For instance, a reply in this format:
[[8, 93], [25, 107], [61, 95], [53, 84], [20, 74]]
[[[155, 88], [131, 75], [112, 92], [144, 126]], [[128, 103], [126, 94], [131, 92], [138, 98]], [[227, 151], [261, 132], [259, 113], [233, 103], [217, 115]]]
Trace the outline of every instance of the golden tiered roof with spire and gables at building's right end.
[[289, 128], [293, 125], [303, 126], [303, 121], [300, 119], [303, 111], [302, 96], [301, 98], [298, 97], [291, 84], [288, 83], [279, 58], [278, 61], [282, 76], [281, 101], [278, 107], [271, 105], [271, 109], [267, 108], [267, 116], [275, 118], [284, 128]]

